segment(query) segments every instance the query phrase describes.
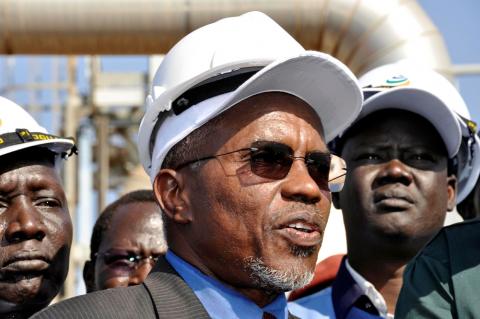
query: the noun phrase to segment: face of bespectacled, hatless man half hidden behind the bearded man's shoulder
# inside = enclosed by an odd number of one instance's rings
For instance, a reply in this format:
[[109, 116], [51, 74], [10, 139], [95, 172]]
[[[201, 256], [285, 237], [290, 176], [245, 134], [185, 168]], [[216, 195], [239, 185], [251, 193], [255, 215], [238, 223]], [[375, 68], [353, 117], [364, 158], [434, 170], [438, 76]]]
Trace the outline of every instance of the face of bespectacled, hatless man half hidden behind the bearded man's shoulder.
[[85, 263], [83, 278], [88, 292], [134, 286], [145, 280], [153, 261], [142, 260], [138, 268], [126, 271], [125, 258], [107, 265], [102, 253], [128, 252], [142, 257], [164, 254], [166, 247], [159, 231], [163, 227], [160, 214], [154, 202], [135, 202], [118, 208], [100, 243], [100, 256]]

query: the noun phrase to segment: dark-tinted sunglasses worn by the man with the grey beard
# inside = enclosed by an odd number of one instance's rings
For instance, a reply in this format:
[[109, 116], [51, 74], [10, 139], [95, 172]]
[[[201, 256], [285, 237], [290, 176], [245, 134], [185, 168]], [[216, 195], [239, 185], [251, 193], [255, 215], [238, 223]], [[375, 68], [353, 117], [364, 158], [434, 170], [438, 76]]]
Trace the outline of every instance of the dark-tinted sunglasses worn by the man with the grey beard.
[[249, 151], [250, 169], [252, 173], [259, 177], [270, 180], [283, 179], [290, 172], [293, 161], [303, 159], [308, 173], [320, 188], [328, 189], [331, 192], [339, 192], [345, 182], [347, 169], [345, 161], [340, 157], [323, 152], [311, 152], [305, 157], [294, 156], [290, 146], [270, 141], [259, 141], [253, 143], [252, 147], [191, 160], [177, 165], [175, 170], [196, 162], [246, 151]]

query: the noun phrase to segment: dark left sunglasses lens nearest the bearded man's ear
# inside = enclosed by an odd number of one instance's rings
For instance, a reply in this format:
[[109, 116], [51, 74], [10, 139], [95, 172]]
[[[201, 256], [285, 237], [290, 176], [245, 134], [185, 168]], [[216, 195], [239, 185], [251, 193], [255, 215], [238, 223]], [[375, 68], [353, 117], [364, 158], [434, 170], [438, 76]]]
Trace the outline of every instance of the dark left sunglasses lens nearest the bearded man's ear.
[[252, 172], [268, 179], [282, 179], [287, 176], [292, 165], [292, 150], [290, 147], [270, 143], [256, 146], [251, 153]]

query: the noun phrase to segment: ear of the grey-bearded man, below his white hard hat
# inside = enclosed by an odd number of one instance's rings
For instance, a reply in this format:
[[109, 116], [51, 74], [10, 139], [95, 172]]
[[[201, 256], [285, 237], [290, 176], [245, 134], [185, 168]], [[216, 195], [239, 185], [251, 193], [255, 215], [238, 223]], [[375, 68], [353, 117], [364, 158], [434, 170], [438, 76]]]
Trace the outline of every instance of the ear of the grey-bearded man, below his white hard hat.
[[188, 224], [192, 221], [181, 174], [172, 169], [160, 170], [153, 182], [153, 191], [160, 208], [173, 222]]

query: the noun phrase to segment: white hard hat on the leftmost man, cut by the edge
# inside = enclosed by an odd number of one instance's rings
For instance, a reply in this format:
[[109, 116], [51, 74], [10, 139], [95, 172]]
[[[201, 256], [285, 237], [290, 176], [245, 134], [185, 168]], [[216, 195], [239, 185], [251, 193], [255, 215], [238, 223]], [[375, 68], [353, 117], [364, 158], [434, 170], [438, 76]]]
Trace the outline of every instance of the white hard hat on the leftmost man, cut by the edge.
[[0, 96], [0, 156], [34, 146], [62, 157], [75, 149], [73, 139], [49, 134], [22, 107]]

